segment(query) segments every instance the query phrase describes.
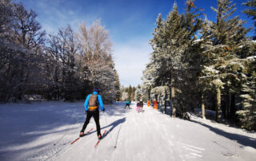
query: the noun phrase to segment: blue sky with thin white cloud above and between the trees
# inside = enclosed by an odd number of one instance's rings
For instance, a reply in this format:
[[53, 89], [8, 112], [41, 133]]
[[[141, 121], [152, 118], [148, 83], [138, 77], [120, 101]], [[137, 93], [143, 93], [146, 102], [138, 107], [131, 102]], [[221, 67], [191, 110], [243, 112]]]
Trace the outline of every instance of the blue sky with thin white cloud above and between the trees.
[[[22, 2], [26, 9], [38, 13], [38, 22], [47, 33], [56, 33], [58, 28], [70, 24], [78, 29], [78, 24], [85, 22], [90, 26], [100, 19], [102, 26], [110, 33], [113, 42], [113, 57], [118, 70], [120, 83], [129, 86], [141, 84], [142, 70], [149, 62], [152, 52], [149, 44], [158, 14], [166, 18], [174, 2], [178, 4], [179, 13], [185, 11], [186, 0], [14, 0]], [[246, 20], [246, 27], [253, 27], [251, 18], [242, 14], [246, 0], [234, 0], [238, 15]], [[196, 0], [194, 5], [211, 21], [216, 14], [210, 6], [217, 8], [217, 0]]]

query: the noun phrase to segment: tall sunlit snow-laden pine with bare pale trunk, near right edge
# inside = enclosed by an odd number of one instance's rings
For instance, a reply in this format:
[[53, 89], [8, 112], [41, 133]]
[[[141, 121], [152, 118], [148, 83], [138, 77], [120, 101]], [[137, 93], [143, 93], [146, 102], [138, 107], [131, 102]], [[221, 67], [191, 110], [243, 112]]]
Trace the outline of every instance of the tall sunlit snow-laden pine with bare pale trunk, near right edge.
[[[246, 44], [246, 33], [249, 29], [242, 27], [242, 20], [239, 17], [230, 18], [234, 13], [235, 4], [231, 4], [229, 0], [218, 0], [218, 9], [212, 7], [217, 14], [217, 22], [206, 22], [206, 26], [202, 29], [202, 39], [206, 41], [205, 51], [203, 51], [204, 69], [202, 70], [202, 78], [204, 84], [210, 84], [216, 93], [216, 120], [221, 119], [221, 96], [232, 95], [237, 92], [238, 88], [230, 83], [234, 80], [237, 71], [227, 69], [232, 59], [245, 57], [240, 52], [241, 48]], [[209, 43], [210, 41], [210, 43]], [[224, 89], [225, 88], [225, 89]], [[222, 92], [222, 93], [221, 93]], [[231, 96], [230, 96], [231, 97]], [[225, 98], [225, 97], [224, 97]], [[234, 101], [234, 99], [229, 100]], [[232, 104], [232, 103], [229, 103]], [[229, 107], [234, 108], [234, 107]], [[226, 111], [227, 109], [224, 108]], [[232, 111], [229, 109], [229, 111]]]

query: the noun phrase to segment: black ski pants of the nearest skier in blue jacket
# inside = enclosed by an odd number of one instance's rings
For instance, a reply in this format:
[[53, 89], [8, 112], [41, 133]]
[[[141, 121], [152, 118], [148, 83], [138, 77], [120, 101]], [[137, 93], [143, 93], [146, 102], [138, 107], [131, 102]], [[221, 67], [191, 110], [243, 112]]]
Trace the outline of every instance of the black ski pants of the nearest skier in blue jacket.
[[85, 131], [87, 125], [90, 122], [90, 117], [92, 117], [92, 116], [94, 117], [94, 121], [95, 121], [95, 124], [96, 124], [97, 135], [101, 135], [101, 127], [99, 125], [99, 112], [98, 112], [98, 110], [88, 111], [87, 112], [87, 114], [86, 114], [86, 122], [85, 122], [85, 124], [83, 124], [81, 132]]

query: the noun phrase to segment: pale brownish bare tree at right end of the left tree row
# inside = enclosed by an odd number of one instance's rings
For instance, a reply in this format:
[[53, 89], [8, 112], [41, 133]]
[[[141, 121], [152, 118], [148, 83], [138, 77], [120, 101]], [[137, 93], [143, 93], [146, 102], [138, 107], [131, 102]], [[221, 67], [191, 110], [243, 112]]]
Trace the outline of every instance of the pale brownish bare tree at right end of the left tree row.
[[78, 40], [82, 47], [82, 60], [89, 69], [89, 80], [102, 89], [106, 102], [115, 100], [116, 84], [114, 62], [112, 60], [112, 42], [108, 31], [96, 21], [88, 29], [84, 23], [80, 25]]

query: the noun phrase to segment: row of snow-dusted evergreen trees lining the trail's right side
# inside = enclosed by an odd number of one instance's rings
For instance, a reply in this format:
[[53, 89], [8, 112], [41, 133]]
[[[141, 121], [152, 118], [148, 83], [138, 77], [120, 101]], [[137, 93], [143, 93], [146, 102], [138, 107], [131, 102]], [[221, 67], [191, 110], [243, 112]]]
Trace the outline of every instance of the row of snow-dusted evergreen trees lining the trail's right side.
[[[186, 2], [186, 12], [178, 6], [166, 20], [159, 14], [150, 44], [154, 50], [143, 71], [144, 100], [171, 100], [173, 116], [186, 118], [194, 108], [215, 110], [215, 120], [237, 121], [242, 128], [256, 128], [256, 41], [246, 37], [250, 29], [238, 16], [235, 4], [218, 0], [212, 7], [216, 22], [197, 9], [194, 0]], [[254, 0], [243, 3], [255, 23]], [[254, 28], [255, 29], [255, 28]]]

